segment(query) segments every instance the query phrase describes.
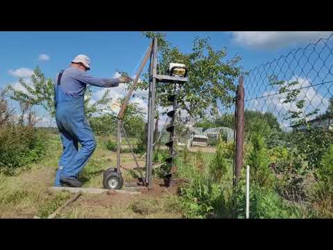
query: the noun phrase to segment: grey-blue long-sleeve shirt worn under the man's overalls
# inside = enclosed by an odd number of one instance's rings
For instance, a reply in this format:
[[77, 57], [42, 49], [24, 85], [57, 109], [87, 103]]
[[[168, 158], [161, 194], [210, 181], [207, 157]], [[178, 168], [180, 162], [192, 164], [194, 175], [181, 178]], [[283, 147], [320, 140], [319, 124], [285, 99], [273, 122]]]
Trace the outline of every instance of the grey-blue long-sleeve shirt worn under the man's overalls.
[[[58, 83], [58, 75], [55, 84]], [[62, 73], [60, 88], [72, 97], [83, 96], [87, 84], [96, 87], [112, 88], [119, 86], [119, 78], [95, 78], [76, 67], [67, 67]]]

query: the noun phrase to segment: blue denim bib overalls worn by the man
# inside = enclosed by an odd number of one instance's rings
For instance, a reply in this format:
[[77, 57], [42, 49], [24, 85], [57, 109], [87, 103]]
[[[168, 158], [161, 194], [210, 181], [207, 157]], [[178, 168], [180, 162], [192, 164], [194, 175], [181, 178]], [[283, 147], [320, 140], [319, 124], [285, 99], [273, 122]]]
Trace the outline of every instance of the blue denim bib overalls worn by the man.
[[[85, 117], [83, 96], [71, 97], [60, 88], [62, 70], [55, 88], [56, 122], [60, 132], [63, 152], [56, 173], [56, 186], [60, 178], [77, 178], [96, 148], [92, 128]], [[78, 142], [82, 148], [78, 151]]]

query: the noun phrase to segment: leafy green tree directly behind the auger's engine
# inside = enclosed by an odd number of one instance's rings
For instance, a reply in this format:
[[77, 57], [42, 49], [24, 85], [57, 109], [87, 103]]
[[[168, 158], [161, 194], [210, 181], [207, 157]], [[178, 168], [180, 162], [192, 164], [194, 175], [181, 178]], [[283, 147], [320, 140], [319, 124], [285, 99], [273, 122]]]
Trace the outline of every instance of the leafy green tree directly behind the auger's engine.
[[[204, 117], [206, 113], [215, 115], [219, 106], [232, 103], [236, 90], [234, 80], [241, 74], [239, 56], [225, 60], [227, 49], [214, 50], [210, 38], [195, 38], [191, 52], [182, 53], [177, 47], [171, 46], [165, 34], [144, 32], [144, 35], [149, 39], [157, 38], [160, 53], [157, 72], [167, 72], [169, 63], [184, 63], [187, 66], [189, 82], [180, 88], [178, 101], [190, 119]], [[156, 85], [157, 105], [169, 106], [165, 93], [173, 92], [173, 87], [173, 84]], [[144, 81], [139, 88], [147, 89], [148, 81]]]

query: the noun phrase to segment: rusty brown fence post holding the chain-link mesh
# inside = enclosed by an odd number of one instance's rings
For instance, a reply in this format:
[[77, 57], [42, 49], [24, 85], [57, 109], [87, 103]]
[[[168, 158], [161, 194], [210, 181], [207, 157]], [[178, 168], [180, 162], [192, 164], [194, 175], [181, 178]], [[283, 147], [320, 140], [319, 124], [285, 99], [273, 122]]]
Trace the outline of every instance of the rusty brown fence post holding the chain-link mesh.
[[244, 165], [244, 78], [239, 77], [237, 86], [236, 113], [236, 157], [235, 157], [235, 185], [239, 181], [241, 168]]

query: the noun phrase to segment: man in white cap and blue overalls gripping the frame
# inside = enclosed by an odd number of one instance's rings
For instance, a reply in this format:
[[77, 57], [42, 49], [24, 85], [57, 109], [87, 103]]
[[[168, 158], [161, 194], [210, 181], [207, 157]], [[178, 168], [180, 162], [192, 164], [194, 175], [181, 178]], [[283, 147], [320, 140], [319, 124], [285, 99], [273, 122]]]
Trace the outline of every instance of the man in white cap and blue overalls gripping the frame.
[[[87, 74], [89, 69], [89, 58], [78, 55], [69, 67], [58, 74], [55, 81], [56, 122], [63, 147], [56, 173], [56, 186], [81, 187], [83, 183], [78, 181], [78, 174], [96, 148], [94, 133], [85, 117], [86, 85], [112, 88], [130, 81], [130, 78], [125, 77], [94, 78]], [[78, 143], [82, 146], [80, 150]]]

